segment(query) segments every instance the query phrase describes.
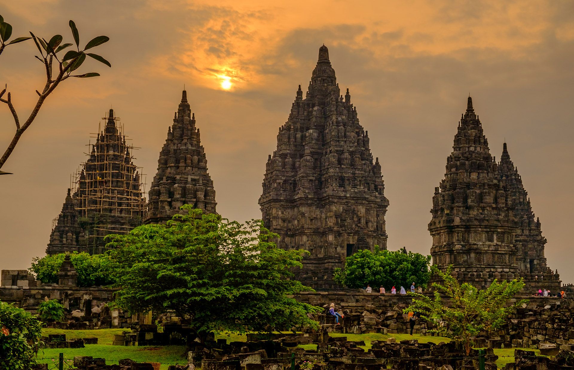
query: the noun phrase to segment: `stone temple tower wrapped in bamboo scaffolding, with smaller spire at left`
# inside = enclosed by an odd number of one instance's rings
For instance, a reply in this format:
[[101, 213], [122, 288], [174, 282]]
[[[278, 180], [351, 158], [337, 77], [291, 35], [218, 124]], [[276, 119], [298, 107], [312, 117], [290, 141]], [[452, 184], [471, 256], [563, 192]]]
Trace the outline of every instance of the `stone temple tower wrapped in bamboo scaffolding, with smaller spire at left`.
[[47, 254], [104, 252], [104, 237], [127, 233], [142, 224], [145, 198], [133, 146], [126, 143], [119, 118], [110, 109], [103, 118], [86, 162], [75, 175], [75, 189], [65, 199], [55, 220]]

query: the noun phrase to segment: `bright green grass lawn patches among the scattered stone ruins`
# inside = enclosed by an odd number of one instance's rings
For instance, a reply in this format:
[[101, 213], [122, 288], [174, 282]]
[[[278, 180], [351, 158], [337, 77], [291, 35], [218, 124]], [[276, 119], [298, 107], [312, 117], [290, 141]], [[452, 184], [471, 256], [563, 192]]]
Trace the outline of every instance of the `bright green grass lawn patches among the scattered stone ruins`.
[[[129, 329], [98, 329], [98, 330], [62, 330], [62, 329], [42, 329], [42, 335], [48, 336], [48, 334], [66, 334], [67, 339], [73, 338], [90, 338], [98, 337], [98, 344], [86, 345], [86, 348], [76, 348], [76, 349], [43, 349], [38, 352], [38, 362], [51, 364], [51, 359], [57, 359], [60, 352], [64, 353], [64, 359], [70, 361], [73, 360], [74, 356], [92, 356], [94, 358], [100, 357], [107, 359], [107, 364], [117, 364], [118, 360], [131, 359], [138, 362], [156, 362], [162, 363], [161, 369], [167, 370], [169, 364], [186, 364], [187, 355], [185, 346], [115, 346], [111, 345], [114, 340], [114, 334], [122, 334], [122, 332], [130, 331]], [[288, 332], [286, 332], [288, 333]], [[289, 332], [290, 333], [290, 332]], [[439, 342], [448, 342], [449, 338], [445, 337], [431, 337], [431, 336], [421, 336], [420, 334], [414, 334], [410, 336], [409, 334], [379, 334], [379, 333], [369, 333], [369, 334], [341, 334], [341, 333], [330, 333], [331, 337], [347, 337], [350, 341], [364, 341], [365, 345], [360, 346], [364, 350], [369, 350], [371, 348], [371, 341], [381, 340], [386, 341], [387, 338], [395, 338], [397, 342], [401, 340], [416, 339], [421, 343], [434, 342], [438, 344]], [[234, 333], [223, 333], [215, 336], [215, 339], [226, 339], [228, 343], [240, 341], [245, 342], [247, 336], [245, 334], [234, 334]], [[301, 344], [299, 345], [304, 349], [316, 350], [316, 344]], [[519, 348], [523, 349], [523, 348]], [[528, 349], [532, 350], [532, 349]], [[536, 355], [540, 355], [540, 350], [534, 349]], [[514, 348], [503, 348], [495, 349], [495, 355], [505, 356], [500, 357], [497, 361], [499, 368], [504, 367], [507, 363], [514, 362]], [[506, 357], [507, 356], [507, 357]], [[57, 361], [57, 360], [56, 360]], [[57, 362], [56, 362], [57, 363]], [[64, 367], [67, 368], [67, 367]], [[69, 367], [71, 368], [71, 366]]]

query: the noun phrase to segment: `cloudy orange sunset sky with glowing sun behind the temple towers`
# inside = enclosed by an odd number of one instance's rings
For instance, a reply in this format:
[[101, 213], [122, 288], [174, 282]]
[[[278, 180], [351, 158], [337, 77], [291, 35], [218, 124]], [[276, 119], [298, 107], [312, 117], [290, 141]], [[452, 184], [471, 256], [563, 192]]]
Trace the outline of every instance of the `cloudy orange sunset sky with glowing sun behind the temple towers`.
[[[0, 269], [45, 254], [70, 174], [110, 107], [148, 188], [183, 85], [195, 112], [218, 212], [260, 218], [267, 155], [308, 85], [321, 45], [349, 88], [385, 180], [389, 249], [429, 254], [435, 186], [470, 92], [491, 154], [506, 138], [548, 239], [548, 265], [574, 282], [574, 3], [571, 1], [3, 1], [13, 37], [110, 37], [42, 107], [0, 177]], [[0, 56], [21, 116], [43, 86], [32, 41]], [[0, 105], [0, 146], [14, 123]], [[93, 139], [92, 139], [93, 141]]]

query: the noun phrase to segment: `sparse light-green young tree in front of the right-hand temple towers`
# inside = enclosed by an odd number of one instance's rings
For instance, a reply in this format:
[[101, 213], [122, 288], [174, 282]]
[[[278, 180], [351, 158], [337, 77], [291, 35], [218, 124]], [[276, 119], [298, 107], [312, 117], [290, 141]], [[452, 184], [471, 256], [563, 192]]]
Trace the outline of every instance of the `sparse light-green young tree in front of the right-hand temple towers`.
[[[527, 303], [527, 299], [513, 301], [513, 297], [524, 287], [522, 278], [498, 282], [496, 279], [486, 290], [478, 289], [469, 283], [460, 284], [447, 271], [440, 271], [433, 266], [433, 273], [440, 276], [443, 284], [433, 283], [433, 299], [422, 294], [414, 294], [412, 304], [404, 311], [417, 312], [427, 321], [444, 322], [432, 332], [451, 338], [464, 345], [466, 355], [472, 348], [472, 337], [496, 332], [506, 324], [508, 317], [518, 306]], [[443, 302], [443, 297], [447, 302]]]

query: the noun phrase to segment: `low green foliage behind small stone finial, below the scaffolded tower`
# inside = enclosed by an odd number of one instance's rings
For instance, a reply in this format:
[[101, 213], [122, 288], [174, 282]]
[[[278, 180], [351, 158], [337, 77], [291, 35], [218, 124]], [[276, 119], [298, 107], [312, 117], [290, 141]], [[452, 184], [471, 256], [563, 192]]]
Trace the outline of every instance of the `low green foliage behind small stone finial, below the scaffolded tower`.
[[[57, 274], [64, 262], [64, 258], [64, 253], [44, 256], [42, 258], [36, 257], [33, 259], [30, 272], [42, 283], [57, 283]], [[77, 272], [78, 286], [105, 286], [114, 283], [113, 274], [110, 273], [110, 256], [101, 254], [90, 255], [86, 252], [72, 252], [70, 259], [72, 266]]]

